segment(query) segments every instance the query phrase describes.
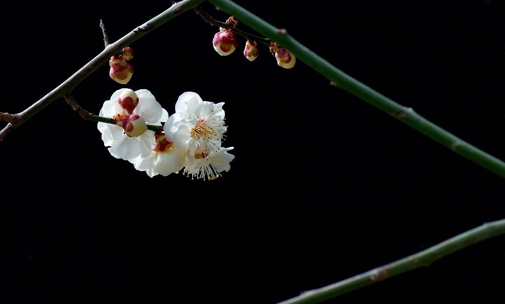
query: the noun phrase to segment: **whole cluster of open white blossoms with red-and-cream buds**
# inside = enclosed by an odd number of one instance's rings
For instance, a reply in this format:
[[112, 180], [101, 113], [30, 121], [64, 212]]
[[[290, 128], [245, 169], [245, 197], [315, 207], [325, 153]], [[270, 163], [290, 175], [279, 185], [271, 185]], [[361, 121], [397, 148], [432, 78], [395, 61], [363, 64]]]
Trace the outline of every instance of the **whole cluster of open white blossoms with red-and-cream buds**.
[[[233, 147], [221, 147], [227, 130], [223, 104], [186, 92], [169, 117], [149, 91], [120, 89], [100, 110], [100, 116], [112, 118], [115, 125], [98, 123], [98, 130], [112, 156], [128, 160], [150, 177], [184, 167], [183, 174], [193, 178], [215, 179], [230, 169], [234, 158], [228, 153]], [[147, 123], [160, 128], [147, 130]]]

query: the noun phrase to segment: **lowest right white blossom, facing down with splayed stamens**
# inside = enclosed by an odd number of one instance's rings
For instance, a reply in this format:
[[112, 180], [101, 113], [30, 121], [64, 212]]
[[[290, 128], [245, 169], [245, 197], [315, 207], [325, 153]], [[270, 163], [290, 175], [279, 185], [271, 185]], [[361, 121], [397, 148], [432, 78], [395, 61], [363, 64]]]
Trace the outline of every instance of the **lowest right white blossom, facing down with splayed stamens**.
[[219, 172], [230, 170], [230, 161], [235, 158], [227, 152], [231, 149], [233, 147], [221, 148], [217, 152], [206, 154], [198, 148], [192, 163], [186, 158], [184, 174], [191, 175], [191, 179], [195, 176], [196, 179], [203, 178], [204, 180], [206, 178], [209, 180], [218, 178], [221, 176]]

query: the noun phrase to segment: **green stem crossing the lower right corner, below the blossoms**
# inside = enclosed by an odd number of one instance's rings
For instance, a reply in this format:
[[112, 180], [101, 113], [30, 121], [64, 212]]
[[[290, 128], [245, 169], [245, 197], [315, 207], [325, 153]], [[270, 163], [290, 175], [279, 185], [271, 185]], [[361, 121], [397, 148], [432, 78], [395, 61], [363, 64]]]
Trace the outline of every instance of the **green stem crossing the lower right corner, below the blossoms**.
[[415, 255], [322, 288], [309, 290], [299, 296], [282, 301], [278, 304], [319, 303], [349, 291], [377, 283], [397, 274], [407, 272], [418, 267], [429, 266], [434, 261], [437, 261], [453, 252], [500, 234], [505, 234], [505, 219], [484, 223], [482, 226], [456, 235], [455, 237], [451, 237], [440, 244], [430, 247]]

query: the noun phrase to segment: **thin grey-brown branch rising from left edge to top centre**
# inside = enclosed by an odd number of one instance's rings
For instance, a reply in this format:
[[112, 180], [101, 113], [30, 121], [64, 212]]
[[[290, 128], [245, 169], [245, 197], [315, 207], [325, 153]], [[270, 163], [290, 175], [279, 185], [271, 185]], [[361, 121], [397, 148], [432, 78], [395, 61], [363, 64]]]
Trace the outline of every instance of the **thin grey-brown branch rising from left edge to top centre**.
[[99, 53], [89, 63], [87, 63], [69, 79], [59, 85], [56, 89], [49, 92], [39, 101], [29, 106], [26, 110], [22, 111], [21, 113], [15, 114], [17, 115], [18, 120], [14, 124], [8, 124], [2, 131], [0, 131], [0, 141], [4, 140], [4, 138], [9, 133], [21, 126], [21, 124], [23, 124], [31, 116], [38, 113], [41, 109], [63, 96], [63, 94], [72, 91], [72, 89], [79, 82], [81, 82], [86, 76], [91, 74], [91, 72], [96, 70], [98, 67], [107, 63], [111, 56], [118, 53], [123, 47], [130, 45], [133, 41], [154, 30], [165, 22], [171, 20], [172, 18], [180, 15], [181, 13], [194, 8], [201, 2], [203, 2], [203, 0], [183, 0], [181, 2], [178, 2], [176, 5], [170, 7], [170, 9], [137, 27], [118, 41], [110, 44], [108, 48], [104, 49], [101, 53]]

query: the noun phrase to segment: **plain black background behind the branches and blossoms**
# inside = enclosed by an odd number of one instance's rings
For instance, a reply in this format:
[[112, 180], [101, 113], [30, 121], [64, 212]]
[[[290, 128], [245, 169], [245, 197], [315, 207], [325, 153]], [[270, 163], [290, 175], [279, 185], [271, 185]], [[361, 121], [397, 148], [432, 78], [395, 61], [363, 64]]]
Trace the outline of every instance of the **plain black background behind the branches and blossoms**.
[[[237, 3], [505, 159], [503, 2]], [[114, 41], [170, 5], [5, 4], [0, 110], [21, 112], [98, 54], [100, 19]], [[240, 20], [239, 28], [253, 32]], [[4, 296], [276, 303], [504, 217], [503, 178], [301, 61], [282, 69], [261, 45], [251, 63], [242, 37], [234, 53], [218, 55], [217, 31], [190, 11], [148, 33], [130, 45], [126, 87], [150, 90], [170, 114], [185, 91], [226, 102], [225, 146], [236, 158], [222, 178], [149, 178], [113, 158], [96, 123], [63, 98], [0, 143]], [[97, 114], [124, 87], [108, 71], [73, 90], [84, 109]], [[499, 299], [504, 270], [498, 236], [327, 303]]]

